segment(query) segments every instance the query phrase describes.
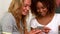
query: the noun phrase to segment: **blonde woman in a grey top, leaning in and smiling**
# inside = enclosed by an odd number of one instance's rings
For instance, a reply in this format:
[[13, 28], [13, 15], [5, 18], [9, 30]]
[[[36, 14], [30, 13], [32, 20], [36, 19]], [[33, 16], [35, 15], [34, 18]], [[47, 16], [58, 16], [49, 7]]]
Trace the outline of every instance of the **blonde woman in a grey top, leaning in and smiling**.
[[8, 12], [1, 20], [3, 34], [27, 34], [26, 15], [30, 4], [25, 0], [12, 0]]

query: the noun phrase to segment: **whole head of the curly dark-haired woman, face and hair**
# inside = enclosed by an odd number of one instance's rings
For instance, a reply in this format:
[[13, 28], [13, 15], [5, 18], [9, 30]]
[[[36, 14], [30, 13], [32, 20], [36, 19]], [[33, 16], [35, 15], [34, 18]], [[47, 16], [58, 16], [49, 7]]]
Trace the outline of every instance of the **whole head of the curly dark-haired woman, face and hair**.
[[31, 12], [36, 17], [45, 17], [55, 13], [55, 0], [31, 0]]

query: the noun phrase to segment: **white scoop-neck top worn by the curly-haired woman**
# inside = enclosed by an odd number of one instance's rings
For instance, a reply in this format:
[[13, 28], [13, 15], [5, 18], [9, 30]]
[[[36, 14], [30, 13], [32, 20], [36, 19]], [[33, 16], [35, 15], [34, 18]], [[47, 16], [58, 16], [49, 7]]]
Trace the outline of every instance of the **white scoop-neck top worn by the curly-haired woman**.
[[[55, 14], [53, 19], [49, 24], [46, 25], [46, 27], [49, 27], [51, 30], [49, 34], [58, 34], [58, 26], [60, 25], [60, 14]], [[31, 20], [30, 26], [32, 28], [36, 28], [37, 26], [44, 26], [42, 24], [39, 24], [36, 18], [33, 18]]]

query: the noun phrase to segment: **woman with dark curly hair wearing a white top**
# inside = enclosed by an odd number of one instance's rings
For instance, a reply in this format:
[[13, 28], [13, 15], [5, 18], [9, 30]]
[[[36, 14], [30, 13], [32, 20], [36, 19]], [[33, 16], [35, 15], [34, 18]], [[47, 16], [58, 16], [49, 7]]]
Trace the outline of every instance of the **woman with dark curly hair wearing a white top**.
[[35, 15], [35, 18], [31, 20], [31, 29], [40, 30], [38, 34], [58, 34], [60, 14], [55, 13], [55, 0], [31, 1], [31, 12]]

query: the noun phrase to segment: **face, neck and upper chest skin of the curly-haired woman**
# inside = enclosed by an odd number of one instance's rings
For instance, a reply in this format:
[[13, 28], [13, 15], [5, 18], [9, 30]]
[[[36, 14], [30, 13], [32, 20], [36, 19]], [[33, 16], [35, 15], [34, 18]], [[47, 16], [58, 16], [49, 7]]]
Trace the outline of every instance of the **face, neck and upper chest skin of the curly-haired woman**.
[[48, 9], [41, 2], [37, 2], [37, 12], [42, 17], [36, 17], [36, 19], [40, 24], [43, 24], [43, 25], [47, 25], [54, 16], [54, 13], [47, 14]]

